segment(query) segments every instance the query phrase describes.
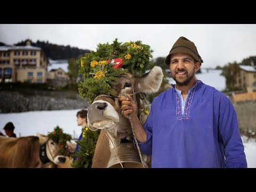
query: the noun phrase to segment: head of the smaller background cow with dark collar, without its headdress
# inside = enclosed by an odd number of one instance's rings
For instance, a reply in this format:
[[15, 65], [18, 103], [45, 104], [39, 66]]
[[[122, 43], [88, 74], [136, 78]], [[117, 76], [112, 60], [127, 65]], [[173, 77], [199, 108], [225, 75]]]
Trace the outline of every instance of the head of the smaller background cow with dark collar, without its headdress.
[[[47, 135], [43, 135], [40, 133], [36, 134], [39, 138], [40, 144], [40, 158], [42, 159], [49, 159], [54, 164], [63, 164], [66, 162], [66, 157], [60, 155], [60, 146], [57, 142], [49, 139]], [[46, 151], [46, 154], [45, 154]], [[43, 162], [44, 163], [44, 162]]]

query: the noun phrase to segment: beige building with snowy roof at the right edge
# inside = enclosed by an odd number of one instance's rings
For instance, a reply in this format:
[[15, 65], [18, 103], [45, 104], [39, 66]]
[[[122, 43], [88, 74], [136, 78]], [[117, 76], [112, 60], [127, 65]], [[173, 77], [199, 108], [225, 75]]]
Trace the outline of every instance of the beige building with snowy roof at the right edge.
[[241, 69], [236, 78], [235, 86], [241, 90], [253, 91], [256, 87], [256, 67], [239, 65]]

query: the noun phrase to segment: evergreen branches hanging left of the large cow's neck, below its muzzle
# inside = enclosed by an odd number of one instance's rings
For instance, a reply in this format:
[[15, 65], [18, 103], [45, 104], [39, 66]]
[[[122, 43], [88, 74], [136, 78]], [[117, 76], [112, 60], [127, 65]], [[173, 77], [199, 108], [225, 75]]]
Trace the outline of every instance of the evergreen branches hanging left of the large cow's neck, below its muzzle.
[[83, 131], [83, 139], [76, 141], [79, 145], [79, 151], [71, 157], [77, 157], [76, 160], [71, 163], [74, 168], [91, 168], [92, 158], [94, 155], [95, 146], [99, 137], [100, 131], [91, 131], [87, 127]]

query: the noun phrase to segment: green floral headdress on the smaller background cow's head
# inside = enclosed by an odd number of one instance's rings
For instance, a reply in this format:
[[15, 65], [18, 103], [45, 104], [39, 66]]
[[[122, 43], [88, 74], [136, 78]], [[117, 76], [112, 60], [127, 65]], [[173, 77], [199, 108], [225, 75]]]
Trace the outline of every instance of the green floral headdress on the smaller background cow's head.
[[60, 146], [60, 154], [68, 155], [67, 152], [67, 141], [71, 140], [71, 135], [64, 133], [63, 130], [57, 125], [53, 132], [48, 133], [49, 139], [57, 142]]

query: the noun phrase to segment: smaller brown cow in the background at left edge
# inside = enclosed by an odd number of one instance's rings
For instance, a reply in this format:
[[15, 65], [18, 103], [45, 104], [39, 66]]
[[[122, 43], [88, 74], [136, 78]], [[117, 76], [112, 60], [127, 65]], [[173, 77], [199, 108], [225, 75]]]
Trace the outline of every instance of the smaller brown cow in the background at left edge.
[[0, 167], [49, 167], [48, 162], [65, 163], [66, 157], [59, 155], [59, 150], [58, 143], [39, 133], [37, 137], [0, 136]]

